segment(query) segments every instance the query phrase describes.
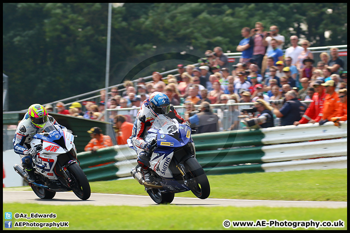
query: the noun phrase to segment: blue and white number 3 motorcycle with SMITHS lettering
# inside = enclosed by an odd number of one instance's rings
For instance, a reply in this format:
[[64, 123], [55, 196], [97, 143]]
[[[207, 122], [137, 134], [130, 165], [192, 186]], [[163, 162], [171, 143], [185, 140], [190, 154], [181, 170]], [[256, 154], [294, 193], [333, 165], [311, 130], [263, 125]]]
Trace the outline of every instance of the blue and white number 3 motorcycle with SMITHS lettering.
[[[159, 115], [147, 131], [145, 141], [152, 145], [149, 171], [152, 183], [147, 183], [140, 166], [131, 170], [131, 175], [142, 185], [157, 204], [171, 203], [175, 193], [192, 191], [200, 198], [210, 195], [210, 184], [202, 166], [195, 158], [192, 130], [177, 120]], [[128, 139], [135, 149], [134, 139]]]

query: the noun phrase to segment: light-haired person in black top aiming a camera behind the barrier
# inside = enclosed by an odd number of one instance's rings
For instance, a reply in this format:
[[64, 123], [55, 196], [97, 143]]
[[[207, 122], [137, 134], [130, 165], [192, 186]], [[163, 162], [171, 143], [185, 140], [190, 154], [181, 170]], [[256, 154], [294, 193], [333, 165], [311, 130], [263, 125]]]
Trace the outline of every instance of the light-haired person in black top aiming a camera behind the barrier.
[[259, 112], [259, 114], [252, 119], [246, 117], [244, 119], [244, 124], [248, 128], [255, 128], [255, 129], [274, 127], [275, 125], [274, 125], [272, 109], [273, 108], [265, 100], [262, 100], [262, 99], [256, 100], [256, 102], [254, 102], [254, 107], [251, 108], [250, 112], [255, 111], [255, 112]]

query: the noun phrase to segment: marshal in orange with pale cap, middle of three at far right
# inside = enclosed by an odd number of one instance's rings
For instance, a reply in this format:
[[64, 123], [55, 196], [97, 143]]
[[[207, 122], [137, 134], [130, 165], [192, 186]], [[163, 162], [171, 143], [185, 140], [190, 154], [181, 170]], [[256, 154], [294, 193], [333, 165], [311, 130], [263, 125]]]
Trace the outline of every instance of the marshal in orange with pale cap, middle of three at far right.
[[325, 122], [330, 121], [332, 117], [339, 116], [340, 113], [340, 100], [338, 94], [335, 92], [335, 82], [328, 80], [326, 83], [322, 83], [328, 94], [323, 103], [323, 116], [319, 122], [323, 125]]

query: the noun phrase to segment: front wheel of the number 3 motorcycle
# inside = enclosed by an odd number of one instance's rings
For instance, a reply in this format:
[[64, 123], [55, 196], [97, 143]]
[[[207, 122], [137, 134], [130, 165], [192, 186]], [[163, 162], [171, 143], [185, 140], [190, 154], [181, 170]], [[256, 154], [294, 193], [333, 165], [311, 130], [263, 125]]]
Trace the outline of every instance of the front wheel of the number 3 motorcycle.
[[189, 178], [194, 179], [188, 183], [192, 193], [200, 199], [206, 199], [210, 195], [210, 184], [202, 166], [195, 158], [189, 158], [184, 162], [186, 173]]

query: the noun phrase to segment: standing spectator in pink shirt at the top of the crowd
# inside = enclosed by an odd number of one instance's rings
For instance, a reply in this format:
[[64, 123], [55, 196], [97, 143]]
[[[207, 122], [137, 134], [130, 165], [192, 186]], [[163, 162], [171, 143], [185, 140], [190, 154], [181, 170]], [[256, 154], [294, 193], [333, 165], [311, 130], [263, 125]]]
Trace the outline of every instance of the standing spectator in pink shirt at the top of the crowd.
[[[255, 59], [259, 68], [262, 68], [262, 59], [266, 53], [266, 32], [262, 32], [263, 26], [261, 22], [255, 23], [255, 29], [251, 30], [251, 35], [254, 38], [253, 58]], [[255, 34], [253, 34], [255, 33]]]

